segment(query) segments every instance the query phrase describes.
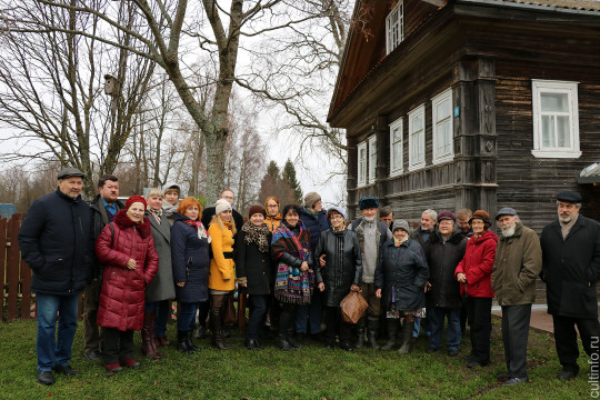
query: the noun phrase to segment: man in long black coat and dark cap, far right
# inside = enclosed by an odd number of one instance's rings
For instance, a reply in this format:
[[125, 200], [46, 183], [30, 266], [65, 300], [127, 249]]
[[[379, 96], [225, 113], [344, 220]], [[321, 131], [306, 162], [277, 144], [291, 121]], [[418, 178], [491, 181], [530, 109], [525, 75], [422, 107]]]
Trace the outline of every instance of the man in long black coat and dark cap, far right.
[[[562, 366], [558, 379], [577, 377], [577, 331], [590, 362], [598, 370], [600, 323], [596, 283], [600, 277], [600, 223], [579, 213], [581, 196], [563, 191], [557, 196], [558, 220], [541, 234], [542, 272], [548, 313], [554, 323], [554, 342]], [[593, 367], [593, 366], [592, 366]]]

